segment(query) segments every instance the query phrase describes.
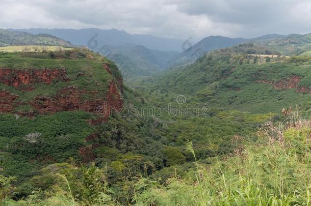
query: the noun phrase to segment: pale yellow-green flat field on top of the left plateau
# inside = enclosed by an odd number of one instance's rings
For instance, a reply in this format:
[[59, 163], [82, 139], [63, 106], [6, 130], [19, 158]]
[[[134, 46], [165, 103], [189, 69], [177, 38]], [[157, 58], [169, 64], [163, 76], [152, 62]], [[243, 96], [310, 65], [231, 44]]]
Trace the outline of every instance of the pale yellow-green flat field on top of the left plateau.
[[22, 45], [22, 46], [5, 46], [0, 47], [0, 52], [34, 52], [34, 51], [58, 51], [72, 50], [73, 48], [62, 46], [42, 46], [42, 45]]

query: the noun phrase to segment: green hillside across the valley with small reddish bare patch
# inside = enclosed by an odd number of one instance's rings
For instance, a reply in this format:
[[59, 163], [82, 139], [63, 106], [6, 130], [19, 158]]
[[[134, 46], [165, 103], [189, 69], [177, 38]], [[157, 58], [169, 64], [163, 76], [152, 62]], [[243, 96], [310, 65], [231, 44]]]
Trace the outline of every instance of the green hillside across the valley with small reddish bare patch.
[[309, 58], [245, 54], [250, 51], [261, 53], [265, 47], [250, 43], [220, 49], [145, 83], [153, 82], [148, 85], [149, 91], [159, 98], [185, 95], [201, 104], [252, 113], [278, 112], [309, 102]]

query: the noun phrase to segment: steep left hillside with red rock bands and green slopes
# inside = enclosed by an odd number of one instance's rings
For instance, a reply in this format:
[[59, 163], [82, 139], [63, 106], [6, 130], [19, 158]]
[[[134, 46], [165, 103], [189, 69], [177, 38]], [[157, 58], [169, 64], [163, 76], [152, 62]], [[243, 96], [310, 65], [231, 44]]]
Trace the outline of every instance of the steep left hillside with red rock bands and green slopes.
[[84, 139], [123, 105], [122, 89], [116, 66], [87, 50], [0, 53], [1, 173], [23, 182], [51, 162], [89, 158]]

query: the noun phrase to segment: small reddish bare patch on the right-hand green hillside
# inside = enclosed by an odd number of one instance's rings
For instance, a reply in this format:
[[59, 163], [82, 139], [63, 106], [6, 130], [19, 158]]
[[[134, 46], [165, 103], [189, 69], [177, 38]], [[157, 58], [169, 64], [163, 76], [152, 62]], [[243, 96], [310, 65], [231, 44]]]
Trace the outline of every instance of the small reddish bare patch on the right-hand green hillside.
[[311, 94], [311, 89], [308, 89], [308, 88], [303, 87], [303, 86], [299, 86], [301, 79], [302, 78], [300, 76], [294, 75], [294, 76], [291, 76], [287, 79], [282, 79], [282, 80], [277, 81], [277, 82], [265, 81], [265, 80], [259, 80], [257, 82], [270, 84], [276, 90], [297, 89], [296, 91], [299, 93]]

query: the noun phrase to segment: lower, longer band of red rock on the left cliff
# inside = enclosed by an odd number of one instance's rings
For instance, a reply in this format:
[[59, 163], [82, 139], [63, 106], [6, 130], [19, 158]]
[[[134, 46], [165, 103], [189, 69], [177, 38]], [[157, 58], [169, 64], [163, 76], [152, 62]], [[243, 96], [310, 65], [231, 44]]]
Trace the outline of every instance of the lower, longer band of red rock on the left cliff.
[[55, 113], [59, 111], [83, 110], [97, 113], [100, 118], [90, 121], [90, 124], [106, 122], [112, 111], [118, 111], [123, 105], [121, 95], [116, 84], [109, 83], [109, 92], [106, 97], [92, 100], [82, 100], [82, 95], [95, 95], [96, 91], [81, 91], [74, 86], [59, 90], [54, 97], [38, 97], [32, 102], [20, 102], [18, 96], [3, 90], [0, 92], [0, 112], [11, 113], [19, 105], [31, 105], [37, 113]]

